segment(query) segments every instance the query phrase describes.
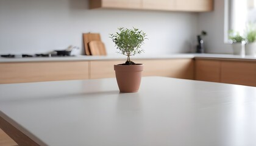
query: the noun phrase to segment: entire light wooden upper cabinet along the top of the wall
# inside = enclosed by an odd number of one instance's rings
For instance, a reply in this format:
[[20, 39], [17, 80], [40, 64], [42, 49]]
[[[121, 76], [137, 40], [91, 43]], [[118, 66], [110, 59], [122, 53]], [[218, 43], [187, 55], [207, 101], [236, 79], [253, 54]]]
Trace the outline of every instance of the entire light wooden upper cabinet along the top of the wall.
[[90, 0], [90, 9], [96, 8], [207, 12], [213, 0]]

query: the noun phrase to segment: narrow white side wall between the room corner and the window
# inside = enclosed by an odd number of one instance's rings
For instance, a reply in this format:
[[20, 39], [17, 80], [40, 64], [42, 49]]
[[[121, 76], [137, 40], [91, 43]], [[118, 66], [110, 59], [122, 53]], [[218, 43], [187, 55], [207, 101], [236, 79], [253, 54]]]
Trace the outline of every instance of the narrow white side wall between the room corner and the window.
[[199, 13], [198, 30], [205, 30], [205, 52], [232, 54], [232, 46], [224, 43], [224, 3], [226, 0], [215, 0], [214, 11]]

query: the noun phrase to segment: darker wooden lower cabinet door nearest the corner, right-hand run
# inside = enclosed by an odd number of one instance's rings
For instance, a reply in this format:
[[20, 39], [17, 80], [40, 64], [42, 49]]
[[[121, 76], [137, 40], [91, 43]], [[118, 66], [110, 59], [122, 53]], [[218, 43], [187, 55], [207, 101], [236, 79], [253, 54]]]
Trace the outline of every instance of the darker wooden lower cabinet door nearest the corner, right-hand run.
[[220, 82], [221, 61], [196, 59], [196, 80]]

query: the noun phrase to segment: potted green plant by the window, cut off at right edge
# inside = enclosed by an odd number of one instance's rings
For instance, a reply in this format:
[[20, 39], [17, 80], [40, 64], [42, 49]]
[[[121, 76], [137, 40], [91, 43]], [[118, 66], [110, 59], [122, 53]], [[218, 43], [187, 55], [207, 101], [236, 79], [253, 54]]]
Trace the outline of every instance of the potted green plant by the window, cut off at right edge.
[[245, 45], [246, 55], [255, 55], [256, 54], [256, 29], [247, 30], [246, 34], [247, 43]]

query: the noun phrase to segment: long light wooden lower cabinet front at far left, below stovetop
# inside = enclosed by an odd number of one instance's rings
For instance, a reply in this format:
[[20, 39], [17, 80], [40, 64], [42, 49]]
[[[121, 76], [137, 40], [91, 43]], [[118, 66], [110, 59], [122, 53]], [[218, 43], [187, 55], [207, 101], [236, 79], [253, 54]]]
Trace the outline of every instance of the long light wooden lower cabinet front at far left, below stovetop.
[[88, 61], [0, 63], [0, 83], [26, 83], [89, 78]]

